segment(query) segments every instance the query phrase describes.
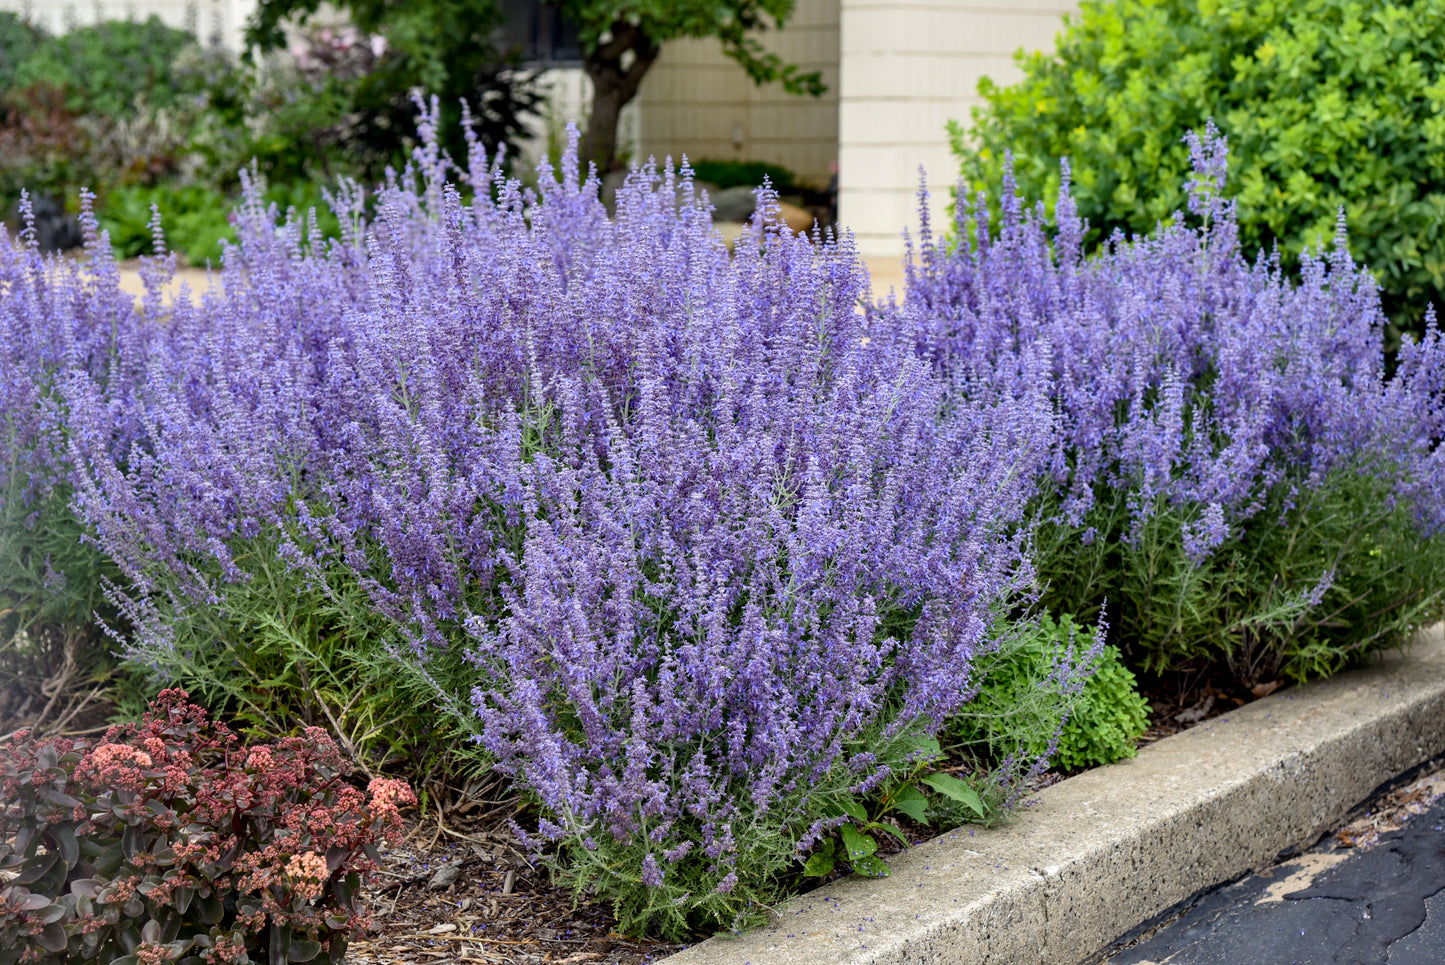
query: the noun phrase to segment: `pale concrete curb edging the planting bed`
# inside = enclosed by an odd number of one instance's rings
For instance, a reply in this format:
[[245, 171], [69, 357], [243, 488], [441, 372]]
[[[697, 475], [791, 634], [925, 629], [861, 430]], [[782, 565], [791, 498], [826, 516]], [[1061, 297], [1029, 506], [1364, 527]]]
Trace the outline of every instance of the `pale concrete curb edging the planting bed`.
[[1293, 688], [1040, 792], [1013, 823], [945, 834], [668, 965], [1075, 965], [1204, 888], [1316, 841], [1445, 751], [1445, 633]]

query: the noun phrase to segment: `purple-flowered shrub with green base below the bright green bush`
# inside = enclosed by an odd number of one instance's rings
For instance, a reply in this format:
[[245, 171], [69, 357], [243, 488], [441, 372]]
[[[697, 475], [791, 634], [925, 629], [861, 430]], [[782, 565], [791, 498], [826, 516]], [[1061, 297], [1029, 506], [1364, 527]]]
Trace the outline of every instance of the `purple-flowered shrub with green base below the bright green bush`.
[[1189, 215], [1094, 260], [1066, 165], [1056, 230], [1012, 179], [997, 237], [965, 199], [955, 248], [923, 237], [909, 313], [964, 394], [978, 373], [1016, 380], [1020, 347], [1051, 352], [1045, 605], [1107, 600], [1114, 639], [1152, 670], [1331, 673], [1441, 615], [1445, 347], [1432, 321], [1387, 380], [1379, 295], [1344, 225], [1298, 285], [1277, 260], [1248, 264], [1224, 139], [1189, 146]]

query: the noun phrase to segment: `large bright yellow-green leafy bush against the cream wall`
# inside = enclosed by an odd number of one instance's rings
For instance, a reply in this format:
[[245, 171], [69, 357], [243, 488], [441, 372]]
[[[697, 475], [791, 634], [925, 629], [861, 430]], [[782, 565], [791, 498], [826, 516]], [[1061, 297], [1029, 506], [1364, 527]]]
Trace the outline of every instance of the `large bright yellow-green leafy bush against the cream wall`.
[[1445, 303], [1445, 12], [1439, 0], [1085, 0], [1025, 79], [980, 84], [972, 130], [951, 124], [962, 178], [1058, 196], [1068, 156], [1092, 243], [1182, 209], [1188, 130], [1230, 139], [1243, 250], [1293, 264], [1334, 234], [1377, 274], [1397, 328]]

